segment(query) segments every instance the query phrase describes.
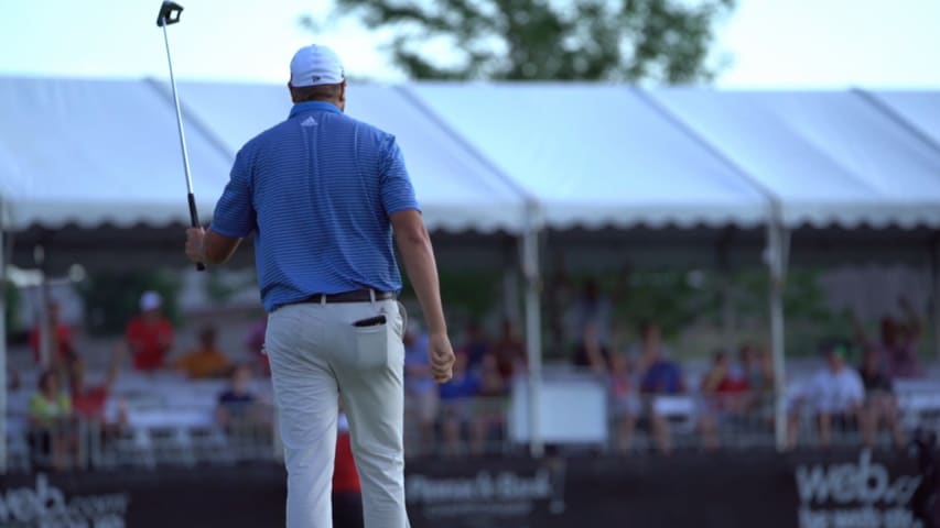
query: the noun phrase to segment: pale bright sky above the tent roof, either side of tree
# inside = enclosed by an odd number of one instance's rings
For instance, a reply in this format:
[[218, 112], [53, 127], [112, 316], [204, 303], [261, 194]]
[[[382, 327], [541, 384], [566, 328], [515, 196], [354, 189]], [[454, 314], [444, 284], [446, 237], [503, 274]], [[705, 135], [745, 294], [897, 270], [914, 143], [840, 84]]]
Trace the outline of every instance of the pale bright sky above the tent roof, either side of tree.
[[[166, 77], [152, 0], [0, 0], [0, 75]], [[334, 47], [354, 78], [398, 82], [381, 46], [389, 33], [353, 18], [316, 33], [303, 14], [328, 19], [326, 0], [179, 0], [171, 25], [179, 79], [285, 82], [296, 48]], [[737, 0], [716, 28], [722, 88], [940, 89], [940, 0]]]

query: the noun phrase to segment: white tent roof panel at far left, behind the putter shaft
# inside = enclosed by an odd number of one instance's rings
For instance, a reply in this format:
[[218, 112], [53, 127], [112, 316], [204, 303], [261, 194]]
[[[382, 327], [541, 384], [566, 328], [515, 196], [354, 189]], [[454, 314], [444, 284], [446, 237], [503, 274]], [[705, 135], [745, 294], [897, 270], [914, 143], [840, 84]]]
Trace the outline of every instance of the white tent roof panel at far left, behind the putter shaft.
[[[0, 114], [4, 226], [187, 221], [176, 120], [145, 84], [2, 78]], [[229, 161], [198, 133], [187, 143], [208, 212]]]

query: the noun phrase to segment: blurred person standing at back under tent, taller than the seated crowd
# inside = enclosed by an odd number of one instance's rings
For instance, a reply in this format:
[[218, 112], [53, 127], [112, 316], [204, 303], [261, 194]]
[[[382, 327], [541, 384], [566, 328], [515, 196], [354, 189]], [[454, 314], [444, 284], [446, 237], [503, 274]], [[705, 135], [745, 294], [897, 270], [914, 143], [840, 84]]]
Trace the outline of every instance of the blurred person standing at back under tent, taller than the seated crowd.
[[[574, 353], [576, 366], [595, 370], [606, 366], [611, 345], [611, 300], [601, 295], [597, 282], [593, 278], [585, 282], [582, 297], [572, 314], [577, 340]], [[599, 361], [602, 356], [603, 363]]]

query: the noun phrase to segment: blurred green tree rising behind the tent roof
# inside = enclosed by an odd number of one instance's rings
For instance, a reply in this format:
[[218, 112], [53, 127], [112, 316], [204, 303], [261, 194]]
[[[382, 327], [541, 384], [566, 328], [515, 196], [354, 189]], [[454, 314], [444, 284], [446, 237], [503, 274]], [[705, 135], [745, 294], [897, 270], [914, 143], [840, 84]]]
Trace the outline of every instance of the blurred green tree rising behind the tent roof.
[[[684, 84], [705, 65], [734, 0], [336, 0], [339, 16], [390, 29], [391, 57], [415, 79]], [[318, 24], [310, 18], [302, 23]], [[452, 57], [435, 53], [445, 44]], [[451, 52], [449, 52], [451, 53]]]

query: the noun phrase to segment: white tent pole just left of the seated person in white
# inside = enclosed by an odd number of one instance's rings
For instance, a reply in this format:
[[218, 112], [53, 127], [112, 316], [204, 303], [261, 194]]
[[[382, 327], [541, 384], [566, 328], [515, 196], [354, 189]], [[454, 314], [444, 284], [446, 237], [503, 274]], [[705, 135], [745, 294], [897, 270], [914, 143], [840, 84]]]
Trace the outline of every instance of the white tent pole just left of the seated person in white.
[[774, 431], [777, 450], [784, 451], [787, 449], [784, 287], [787, 278], [790, 237], [780, 221], [779, 208], [774, 209], [767, 226], [767, 264], [770, 273], [770, 352], [774, 358]]

